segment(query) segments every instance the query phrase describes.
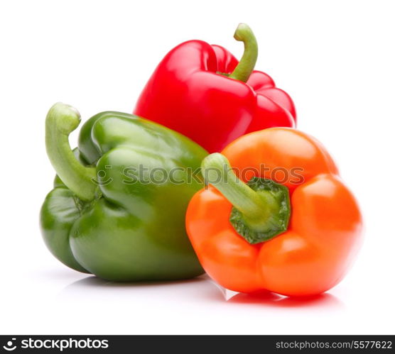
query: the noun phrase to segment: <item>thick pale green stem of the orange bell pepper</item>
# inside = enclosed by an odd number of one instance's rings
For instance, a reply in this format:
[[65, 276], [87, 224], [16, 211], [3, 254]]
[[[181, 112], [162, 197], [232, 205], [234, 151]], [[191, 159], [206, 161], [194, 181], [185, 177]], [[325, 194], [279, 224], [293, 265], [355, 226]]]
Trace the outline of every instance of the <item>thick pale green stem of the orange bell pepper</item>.
[[205, 182], [212, 184], [239, 210], [255, 231], [268, 228], [271, 223], [271, 205], [275, 203], [269, 193], [257, 193], [234, 174], [224, 155], [213, 153], [202, 161]]

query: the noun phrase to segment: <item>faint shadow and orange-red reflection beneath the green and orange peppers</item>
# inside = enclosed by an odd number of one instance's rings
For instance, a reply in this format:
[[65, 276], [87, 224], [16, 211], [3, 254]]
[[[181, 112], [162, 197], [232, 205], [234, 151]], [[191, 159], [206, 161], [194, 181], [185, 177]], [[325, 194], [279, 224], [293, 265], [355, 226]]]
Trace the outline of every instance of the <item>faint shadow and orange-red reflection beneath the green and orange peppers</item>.
[[344, 306], [340, 299], [325, 293], [314, 297], [288, 298], [272, 292], [255, 292], [242, 294], [224, 289], [202, 275], [191, 280], [173, 282], [131, 282], [117, 283], [88, 276], [68, 284], [58, 294], [60, 299], [78, 297], [80, 301], [89, 299], [94, 302], [106, 299], [171, 299], [178, 302], [226, 303], [234, 306], [273, 306], [273, 307], [325, 307], [340, 309]]

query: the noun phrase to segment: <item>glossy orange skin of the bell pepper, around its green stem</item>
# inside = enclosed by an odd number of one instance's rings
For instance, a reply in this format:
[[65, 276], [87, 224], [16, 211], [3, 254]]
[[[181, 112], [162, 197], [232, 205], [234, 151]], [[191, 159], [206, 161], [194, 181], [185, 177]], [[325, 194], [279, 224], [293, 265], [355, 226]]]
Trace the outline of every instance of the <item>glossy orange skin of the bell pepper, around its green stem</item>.
[[[229, 221], [229, 200], [239, 203], [240, 210], [254, 210], [247, 205], [249, 198], [237, 200], [240, 195], [222, 184], [200, 190], [188, 206], [186, 226], [207, 274], [237, 292], [267, 289], [286, 296], [320, 294], [340, 282], [359, 249], [362, 216], [323, 145], [301, 131], [269, 128], [244, 135], [222, 154], [206, 157], [203, 172], [213, 166], [212, 160], [224, 165], [228, 160], [243, 182], [264, 177], [286, 186], [291, 217], [285, 232], [249, 243]], [[242, 184], [242, 193], [255, 198], [256, 192], [246, 186]], [[265, 205], [257, 209], [256, 220]]]

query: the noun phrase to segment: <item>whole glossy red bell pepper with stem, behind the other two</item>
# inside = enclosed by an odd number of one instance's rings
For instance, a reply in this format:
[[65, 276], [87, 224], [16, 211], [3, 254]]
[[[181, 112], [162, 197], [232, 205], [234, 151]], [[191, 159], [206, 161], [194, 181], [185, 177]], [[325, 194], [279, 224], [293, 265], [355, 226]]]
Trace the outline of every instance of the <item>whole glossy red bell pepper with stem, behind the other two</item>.
[[254, 34], [240, 24], [234, 38], [244, 42], [240, 62], [220, 45], [202, 40], [171, 50], [141, 92], [134, 114], [188, 136], [210, 153], [251, 131], [293, 127], [290, 96], [268, 74], [253, 71]]

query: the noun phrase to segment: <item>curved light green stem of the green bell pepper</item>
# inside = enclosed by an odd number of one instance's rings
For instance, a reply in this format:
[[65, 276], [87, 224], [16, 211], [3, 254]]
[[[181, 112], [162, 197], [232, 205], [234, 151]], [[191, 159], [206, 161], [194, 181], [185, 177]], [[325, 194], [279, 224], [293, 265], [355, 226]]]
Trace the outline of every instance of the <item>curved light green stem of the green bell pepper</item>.
[[70, 148], [69, 135], [80, 124], [77, 109], [54, 104], [45, 119], [45, 147], [50, 162], [63, 183], [82, 200], [94, 199], [96, 168], [85, 167]]

